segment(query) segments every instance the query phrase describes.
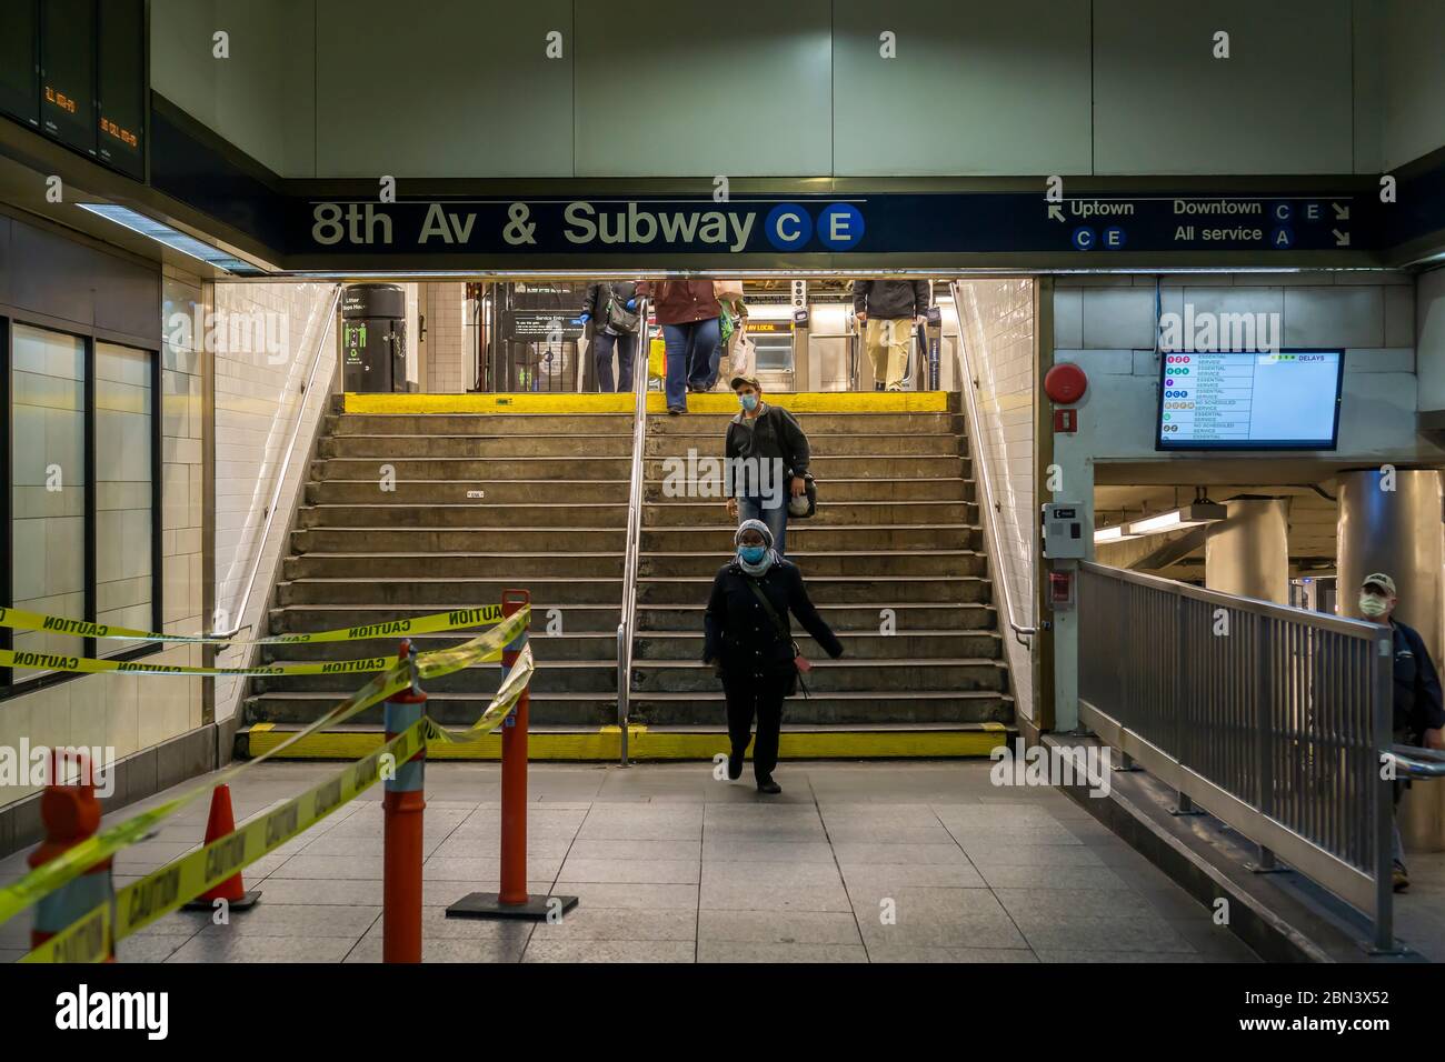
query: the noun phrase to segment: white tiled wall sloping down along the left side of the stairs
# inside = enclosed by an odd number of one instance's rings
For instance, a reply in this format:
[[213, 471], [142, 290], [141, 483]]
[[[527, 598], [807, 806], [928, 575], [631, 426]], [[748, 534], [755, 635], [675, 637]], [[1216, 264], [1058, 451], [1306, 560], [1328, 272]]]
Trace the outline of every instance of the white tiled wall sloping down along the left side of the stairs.
[[[286, 548], [298, 491], [305, 483], [316, 420], [327, 405], [337, 363], [335, 315], [328, 312], [334, 292], [335, 285], [325, 283], [215, 285], [218, 316], [262, 314], [276, 322], [276, 337], [282, 335], [279, 322], [285, 321], [286, 341], [277, 344], [277, 350], [215, 353], [215, 623], [223, 627], [236, 623], [254, 566], [256, 585], [238, 617], [247, 627], [243, 637], [266, 633], [276, 565]], [[302, 394], [318, 344], [315, 386]], [[263, 539], [266, 510], [298, 416], [302, 418], [301, 431], [277, 514]], [[227, 649], [217, 653], [217, 666], [246, 666], [249, 657], [246, 646]], [[244, 688], [244, 679], [215, 681], [218, 721], [234, 715]]]

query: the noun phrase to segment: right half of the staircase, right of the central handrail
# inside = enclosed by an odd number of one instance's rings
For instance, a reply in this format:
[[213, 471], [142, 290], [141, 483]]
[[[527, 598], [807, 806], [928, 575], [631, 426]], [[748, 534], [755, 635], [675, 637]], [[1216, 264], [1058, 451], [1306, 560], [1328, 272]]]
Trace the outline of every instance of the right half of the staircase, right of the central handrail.
[[[789, 523], [788, 556], [847, 647], [828, 660], [795, 623], [816, 666], [811, 696], [788, 701], [783, 754], [987, 754], [1013, 702], [962, 418], [942, 394], [838, 397], [764, 394], [790, 405], [809, 438], [819, 507]], [[717, 405], [702, 409], [733, 403], [707, 399]], [[829, 405], [899, 412], [806, 412]], [[699, 657], [702, 610], [734, 524], [715, 487], [711, 497], [675, 494], [699, 461], [705, 472], [707, 458], [721, 458], [730, 416], [649, 418], [631, 675], [631, 721], [649, 733], [725, 730], [721, 689]]]

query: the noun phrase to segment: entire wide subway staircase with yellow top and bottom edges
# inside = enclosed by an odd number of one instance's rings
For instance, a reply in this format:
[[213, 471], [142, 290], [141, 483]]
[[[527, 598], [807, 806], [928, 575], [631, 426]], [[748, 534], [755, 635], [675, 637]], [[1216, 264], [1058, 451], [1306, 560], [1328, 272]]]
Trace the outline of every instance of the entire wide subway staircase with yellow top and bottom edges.
[[[387, 410], [383, 397], [368, 396], [364, 407]], [[412, 400], [403, 409], [418, 399], [394, 397]], [[496, 412], [494, 396], [435, 397], [449, 399], [435, 406], [451, 412], [338, 405], [328, 416], [270, 631], [493, 604], [506, 588], [526, 588], [538, 663], [533, 756], [614, 759], [633, 445], [633, 415], [620, 402], [627, 396], [571, 396], [568, 412]], [[808, 432], [819, 484], [818, 516], [792, 522], [788, 555], [847, 650], [829, 660], [793, 623], [816, 666], [811, 695], [788, 702], [783, 754], [987, 754], [1013, 722], [1013, 701], [962, 418], [942, 394], [777, 400]], [[692, 394], [689, 405], [694, 412], [681, 418], [659, 406], [646, 425], [629, 734], [639, 759], [705, 759], [725, 748], [722, 694], [699, 657], [704, 607], [734, 524], [724, 498], [668, 497], [663, 483], [675, 470], [669, 458], [688, 467], [689, 451], [694, 464], [722, 455], [736, 400]], [[457, 412], [470, 409], [478, 412]], [[475, 633], [420, 636], [416, 646], [445, 647]], [[267, 646], [262, 659], [360, 659], [392, 655], [396, 644], [387, 636]], [[438, 679], [428, 686], [429, 712], [445, 724], [474, 721], [500, 672], [484, 663]], [[354, 672], [253, 679], [238, 753], [262, 751], [358, 685]], [[363, 754], [380, 721], [380, 707], [368, 709], [293, 754]]]

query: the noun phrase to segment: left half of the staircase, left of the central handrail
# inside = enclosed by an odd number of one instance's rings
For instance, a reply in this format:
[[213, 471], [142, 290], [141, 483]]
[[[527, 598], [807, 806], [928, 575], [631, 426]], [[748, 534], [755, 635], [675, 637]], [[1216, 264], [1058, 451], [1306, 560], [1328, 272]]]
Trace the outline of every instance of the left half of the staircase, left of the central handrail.
[[[616, 724], [631, 444], [631, 413], [331, 415], [276, 588], [272, 633], [497, 604], [503, 590], [525, 588], [538, 662], [533, 730], [595, 734]], [[426, 652], [477, 633], [420, 636], [415, 644]], [[267, 646], [264, 660], [396, 649], [396, 636], [280, 644]], [[364, 681], [256, 679], [246, 718], [305, 724]], [[499, 681], [497, 663], [435, 679], [428, 712], [445, 724], [473, 722]], [[374, 728], [380, 718], [377, 707], [355, 722]]]

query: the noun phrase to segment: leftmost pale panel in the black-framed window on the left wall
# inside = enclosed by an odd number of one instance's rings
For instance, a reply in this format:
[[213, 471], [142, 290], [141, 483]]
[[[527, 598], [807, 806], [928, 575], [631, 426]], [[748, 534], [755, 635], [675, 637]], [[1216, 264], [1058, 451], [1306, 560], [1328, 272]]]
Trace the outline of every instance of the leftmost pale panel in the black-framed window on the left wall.
[[[14, 604], [85, 618], [85, 345], [14, 325], [12, 511]], [[16, 652], [79, 656], [82, 640], [16, 631]], [[48, 669], [14, 669], [14, 681]]]

